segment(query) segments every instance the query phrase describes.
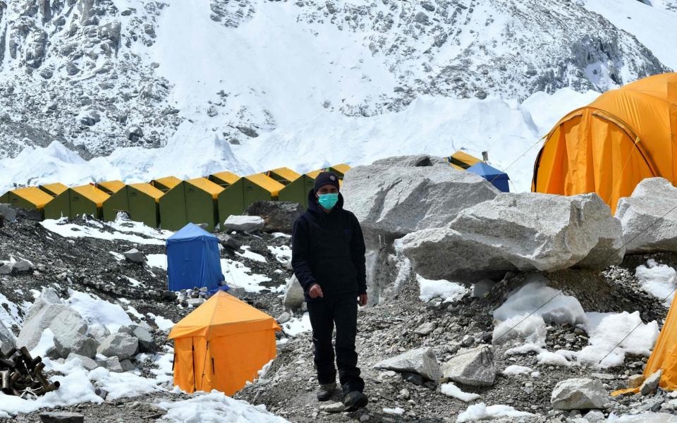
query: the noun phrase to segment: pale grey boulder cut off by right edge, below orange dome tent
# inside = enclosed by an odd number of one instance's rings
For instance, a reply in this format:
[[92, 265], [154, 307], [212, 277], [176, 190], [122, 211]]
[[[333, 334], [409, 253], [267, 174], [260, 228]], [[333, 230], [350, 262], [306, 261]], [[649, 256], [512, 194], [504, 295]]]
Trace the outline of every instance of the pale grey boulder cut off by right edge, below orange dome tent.
[[630, 197], [618, 200], [627, 251], [677, 251], [676, 207], [677, 188], [664, 178], [642, 180]]

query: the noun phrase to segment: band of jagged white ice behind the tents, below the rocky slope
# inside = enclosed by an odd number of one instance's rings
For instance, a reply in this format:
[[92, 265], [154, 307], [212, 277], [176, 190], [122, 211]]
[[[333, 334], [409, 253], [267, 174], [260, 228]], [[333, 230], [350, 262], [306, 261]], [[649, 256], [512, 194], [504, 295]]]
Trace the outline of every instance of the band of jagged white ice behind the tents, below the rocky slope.
[[[179, 8], [176, 6], [178, 4], [168, 8], [168, 13], [178, 13]], [[192, 6], [186, 4], [185, 8], [192, 9]], [[191, 15], [195, 11], [185, 13]], [[257, 16], [260, 14], [257, 13]], [[174, 31], [177, 27], [169, 25], [166, 28]], [[178, 28], [188, 30], [190, 25], [182, 24]], [[178, 35], [176, 37], [180, 39]], [[162, 39], [164, 37], [160, 36], [159, 44]], [[186, 38], [190, 39], [193, 39], [192, 35]], [[224, 41], [221, 36], [213, 39]], [[171, 50], [177, 53], [181, 51], [176, 49], [174, 41], [171, 41]], [[193, 48], [186, 49], [183, 52], [192, 50]], [[185, 57], [182, 57], [181, 63], [184, 60]], [[224, 61], [225, 68], [229, 69], [238, 63], [231, 59]], [[279, 63], [286, 63], [286, 60]], [[168, 66], [163, 65], [159, 70], [171, 68], [168, 63]], [[183, 64], [178, 68], [185, 70]], [[251, 68], [247, 68], [247, 75], [251, 71]], [[298, 78], [296, 71], [290, 75], [294, 75], [297, 80], [304, 79]], [[181, 83], [178, 85], [184, 82], [193, 84], [195, 81], [198, 85], [205, 85], [205, 82], [200, 82], [205, 80], [192, 76], [179, 80]], [[218, 81], [219, 78], [215, 80]], [[236, 80], [231, 82], [235, 83]], [[285, 85], [275, 84], [276, 87]], [[322, 85], [327, 86], [326, 82]], [[180, 97], [179, 93], [198, 88], [177, 87], [175, 95]], [[216, 93], [219, 88], [207, 87], [199, 90]], [[243, 93], [243, 96], [250, 95], [257, 94]], [[341, 92], [341, 95], [344, 96], [344, 93]], [[16, 158], [0, 161], [0, 192], [11, 189], [13, 183], [26, 184], [28, 180], [34, 185], [54, 181], [79, 185], [111, 179], [120, 179], [126, 183], [145, 182], [166, 176], [167, 163], [172, 164], [171, 173], [179, 178], [195, 178], [223, 170], [249, 174], [279, 166], [288, 166], [303, 173], [330, 164], [348, 163], [356, 166], [403, 154], [446, 157], [458, 149], [465, 149], [476, 156], [480, 156], [482, 151], [488, 151], [490, 164], [510, 175], [511, 190], [528, 191], [532, 164], [541, 144], [540, 137], [568, 111], [588, 104], [597, 95], [595, 92], [583, 94], [563, 89], [552, 96], [535, 93], [523, 104], [495, 97], [479, 100], [421, 96], [403, 111], [370, 117], [343, 116], [329, 112], [322, 107], [324, 96], [313, 100], [307, 107], [305, 104], [290, 105], [285, 102], [276, 116], [284, 116], [288, 111], [294, 111], [298, 116], [281, 118], [276, 122], [276, 129], [262, 132], [246, 146], [229, 145], [218, 133], [208, 129], [210, 123], [205, 123], [204, 118], [195, 117], [193, 123], [185, 121], [181, 124], [167, 145], [160, 149], [126, 147], [116, 149], [110, 156], [84, 161], [59, 142], [52, 142], [44, 148], [27, 147]], [[299, 96], [298, 92], [279, 98], [308, 101]], [[177, 99], [177, 102], [185, 102], [185, 98]], [[310, 112], [302, 114], [304, 110]], [[191, 114], [188, 113], [188, 116]], [[339, 147], [336, 147], [336, 140], [341, 140]], [[527, 153], [522, 156], [525, 152]], [[66, 231], [66, 228], [63, 229]]]

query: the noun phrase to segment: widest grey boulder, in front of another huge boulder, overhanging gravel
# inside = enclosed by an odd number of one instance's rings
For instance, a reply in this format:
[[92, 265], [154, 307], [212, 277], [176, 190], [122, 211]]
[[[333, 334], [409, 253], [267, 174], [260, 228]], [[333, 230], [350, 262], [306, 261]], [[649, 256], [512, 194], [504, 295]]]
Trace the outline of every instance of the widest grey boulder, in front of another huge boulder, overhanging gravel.
[[444, 228], [406, 235], [402, 252], [429, 279], [475, 282], [506, 271], [604, 269], [623, 259], [621, 223], [597, 194], [501, 193]]

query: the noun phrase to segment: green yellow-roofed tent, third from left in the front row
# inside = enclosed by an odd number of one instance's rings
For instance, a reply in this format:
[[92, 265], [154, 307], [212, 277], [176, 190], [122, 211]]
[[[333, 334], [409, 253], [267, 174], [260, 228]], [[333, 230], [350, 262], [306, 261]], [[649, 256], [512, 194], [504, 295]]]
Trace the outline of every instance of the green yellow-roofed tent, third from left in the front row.
[[160, 226], [159, 200], [164, 192], [150, 183], [125, 185], [104, 202], [104, 220], [114, 221], [118, 212], [126, 212], [133, 221], [151, 228]]

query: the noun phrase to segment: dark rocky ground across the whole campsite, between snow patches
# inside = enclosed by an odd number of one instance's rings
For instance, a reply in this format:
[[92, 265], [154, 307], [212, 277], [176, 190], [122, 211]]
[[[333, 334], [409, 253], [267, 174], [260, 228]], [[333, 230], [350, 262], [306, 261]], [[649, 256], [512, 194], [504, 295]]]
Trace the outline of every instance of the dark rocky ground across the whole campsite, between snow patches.
[[[133, 223], [125, 221], [112, 225], [90, 220], [71, 223], [77, 225], [75, 228], [78, 231], [97, 230], [107, 234], [121, 233], [126, 226], [133, 228]], [[166, 351], [164, 345], [171, 345], [166, 342], [166, 329], [162, 330], [148, 313], [176, 322], [192, 308], [188, 306], [185, 295], [176, 298], [176, 295], [166, 292], [166, 273], [163, 269], [120, 259], [124, 252], [132, 248], [140, 250], [145, 256], [164, 253], [164, 245], [161, 242], [150, 243], [150, 235], [134, 234], [148, 238], [137, 242], [105, 240], [100, 235], [99, 238], [64, 238], [39, 222], [26, 219], [6, 222], [0, 228], [0, 260], [7, 261], [10, 257], [27, 259], [33, 269], [15, 270], [0, 276], [0, 294], [7, 299], [4, 300], [4, 309], [12, 314], [9, 303], [18, 305], [16, 312], [18, 321], [21, 321], [34, 301], [33, 290], [49, 287], [61, 298], [68, 298], [69, 289], [91, 293], [121, 305], [135, 323], [149, 326], [161, 352]], [[268, 247], [289, 245], [288, 236], [267, 233], [231, 233], [228, 235], [231, 239], [219, 236], [222, 244], [236, 246], [234, 249], [224, 247], [222, 258], [244, 264], [252, 273], [271, 279], [261, 283], [264, 289], [260, 293], [240, 291], [241, 298], [274, 317], [281, 317], [285, 307], [279, 287], [291, 276], [291, 269], [288, 262], [279, 260]], [[261, 255], [265, 262], [251, 256], [243, 257], [245, 250], [241, 246], [248, 246], [250, 252]], [[662, 324], [667, 308], [657, 298], [647, 294], [635, 277], [636, 267], [645, 264], [647, 259], [677, 266], [676, 254], [635, 254], [626, 255], [621, 264], [604, 271], [568, 269], [551, 272], [547, 278], [549, 286], [562, 289], [565, 295], [578, 299], [586, 312], [638, 310], [642, 321], [656, 320]], [[370, 404], [363, 410], [328, 412], [317, 403], [317, 381], [308, 332], [297, 336], [281, 333], [279, 356], [261, 379], [245, 387], [234, 398], [265, 405], [268, 410], [290, 422], [455, 422], [469, 405], [480, 401], [487, 405], [508, 405], [531, 413], [525, 417], [506, 417], [501, 421], [582, 423], [598, 421], [612, 412], [623, 415], [640, 411], [677, 415], [676, 397], [661, 390], [647, 396], [610, 399], [608, 408], [592, 411], [592, 414], [588, 414], [587, 410], [553, 409], [551, 393], [558, 382], [585, 377], [599, 381], [606, 393], [625, 388], [628, 376], [640, 374], [645, 366], [647, 357], [640, 355], [628, 354], [623, 365], [607, 369], [579, 365], [555, 366], [539, 364], [536, 353], [507, 354], [512, 343], [494, 343], [492, 354], [484, 357], [486, 365], [482, 364], [495, 372], [494, 384], [457, 384], [465, 393], [479, 395], [477, 400], [470, 403], [441, 393], [437, 383], [425, 381], [416, 374], [374, 368], [377, 362], [417, 348], [429, 348], [437, 361], [443, 364], [462, 348], [491, 344], [494, 309], [504, 304], [508, 294], [523, 285], [526, 277], [520, 272], [508, 272], [485, 297], [475, 297], [469, 289], [450, 302], [442, 302], [439, 298], [425, 302], [420, 299], [417, 278], [410, 274], [391, 298], [380, 305], [360, 309], [357, 345], [366, 382], [365, 391], [370, 396]], [[128, 278], [140, 281], [140, 284], [130, 283]], [[131, 312], [130, 307], [143, 319]], [[291, 314], [300, 318], [303, 308], [293, 309]], [[11, 329], [18, 334], [20, 328], [17, 325]], [[549, 324], [547, 327], [545, 344], [548, 351], [562, 348], [578, 351], [587, 345], [587, 341], [588, 334], [578, 326]], [[152, 359], [137, 364], [145, 375], [150, 375], [150, 371], [157, 368]], [[537, 374], [503, 374], [504, 369], [511, 365], [530, 367]], [[165, 388], [171, 386], [167, 384]], [[97, 405], [83, 403], [60, 407], [58, 410], [78, 412], [87, 419], [99, 422], [152, 421], [165, 415], [165, 411], [157, 407], [159, 401], [185, 398], [190, 396], [157, 391], [133, 398], [106, 400]], [[329, 403], [340, 399], [337, 391]], [[587, 420], [575, 420], [583, 415]], [[11, 421], [38, 422], [39, 412], [18, 415]]]

